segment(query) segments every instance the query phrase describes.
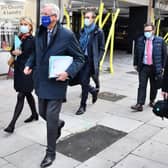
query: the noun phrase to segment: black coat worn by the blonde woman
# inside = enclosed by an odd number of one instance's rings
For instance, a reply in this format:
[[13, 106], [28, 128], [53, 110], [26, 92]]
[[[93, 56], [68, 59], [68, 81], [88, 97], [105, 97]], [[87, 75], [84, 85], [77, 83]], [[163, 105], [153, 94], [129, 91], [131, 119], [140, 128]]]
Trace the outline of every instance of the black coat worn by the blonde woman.
[[14, 88], [17, 92], [32, 92], [32, 74], [25, 75], [23, 72], [25, 63], [34, 51], [34, 37], [32, 35], [22, 40], [21, 51], [22, 54], [15, 57], [14, 62]]

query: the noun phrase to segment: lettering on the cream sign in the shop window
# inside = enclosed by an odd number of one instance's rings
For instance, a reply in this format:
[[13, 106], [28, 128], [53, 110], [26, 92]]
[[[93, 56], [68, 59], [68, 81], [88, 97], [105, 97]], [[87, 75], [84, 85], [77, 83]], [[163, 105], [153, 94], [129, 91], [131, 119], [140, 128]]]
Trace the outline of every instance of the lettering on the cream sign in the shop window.
[[20, 18], [24, 15], [24, 4], [6, 4], [0, 5], [0, 16], [2, 18]]

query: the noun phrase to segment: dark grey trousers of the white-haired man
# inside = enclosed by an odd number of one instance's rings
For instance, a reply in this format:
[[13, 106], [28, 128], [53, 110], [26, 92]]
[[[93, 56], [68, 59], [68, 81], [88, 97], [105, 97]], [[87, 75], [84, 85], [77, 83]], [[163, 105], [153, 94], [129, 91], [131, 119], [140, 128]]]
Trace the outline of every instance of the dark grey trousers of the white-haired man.
[[39, 99], [39, 114], [47, 122], [47, 153], [55, 155], [62, 100]]

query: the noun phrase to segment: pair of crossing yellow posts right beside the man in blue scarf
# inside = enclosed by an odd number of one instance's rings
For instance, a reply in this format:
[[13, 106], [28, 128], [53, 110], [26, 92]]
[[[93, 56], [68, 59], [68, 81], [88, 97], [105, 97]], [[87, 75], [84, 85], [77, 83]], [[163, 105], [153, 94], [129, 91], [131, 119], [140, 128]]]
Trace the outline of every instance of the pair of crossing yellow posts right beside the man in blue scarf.
[[106, 41], [106, 44], [105, 44], [105, 52], [104, 52], [104, 55], [100, 61], [100, 70], [102, 70], [102, 66], [103, 66], [103, 63], [104, 63], [104, 60], [105, 60], [105, 57], [107, 55], [107, 50], [108, 50], [108, 46], [109, 46], [109, 43], [110, 43], [110, 40], [112, 40], [111, 42], [111, 51], [110, 51], [110, 72], [113, 73], [113, 49], [114, 49], [114, 32], [115, 32], [115, 23], [116, 23], [116, 20], [117, 20], [117, 17], [120, 13], [120, 9], [118, 8], [117, 11], [115, 12], [115, 14], [112, 14], [112, 24], [111, 24], [111, 27], [110, 27], [110, 31], [109, 31], [109, 34], [108, 34], [108, 37], [107, 37], [107, 41]]

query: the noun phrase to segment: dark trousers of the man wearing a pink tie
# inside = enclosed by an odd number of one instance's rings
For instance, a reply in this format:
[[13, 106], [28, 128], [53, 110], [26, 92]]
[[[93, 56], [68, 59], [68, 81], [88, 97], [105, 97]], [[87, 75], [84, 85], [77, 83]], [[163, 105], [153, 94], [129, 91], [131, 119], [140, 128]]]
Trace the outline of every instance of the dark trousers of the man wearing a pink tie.
[[143, 65], [141, 71], [139, 72], [138, 104], [145, 104], [148, 79], [150, 81], [150, 101], [153, 102], [157, 95], [157, 88], [155, 85], [155, 68], [152, 65]]

